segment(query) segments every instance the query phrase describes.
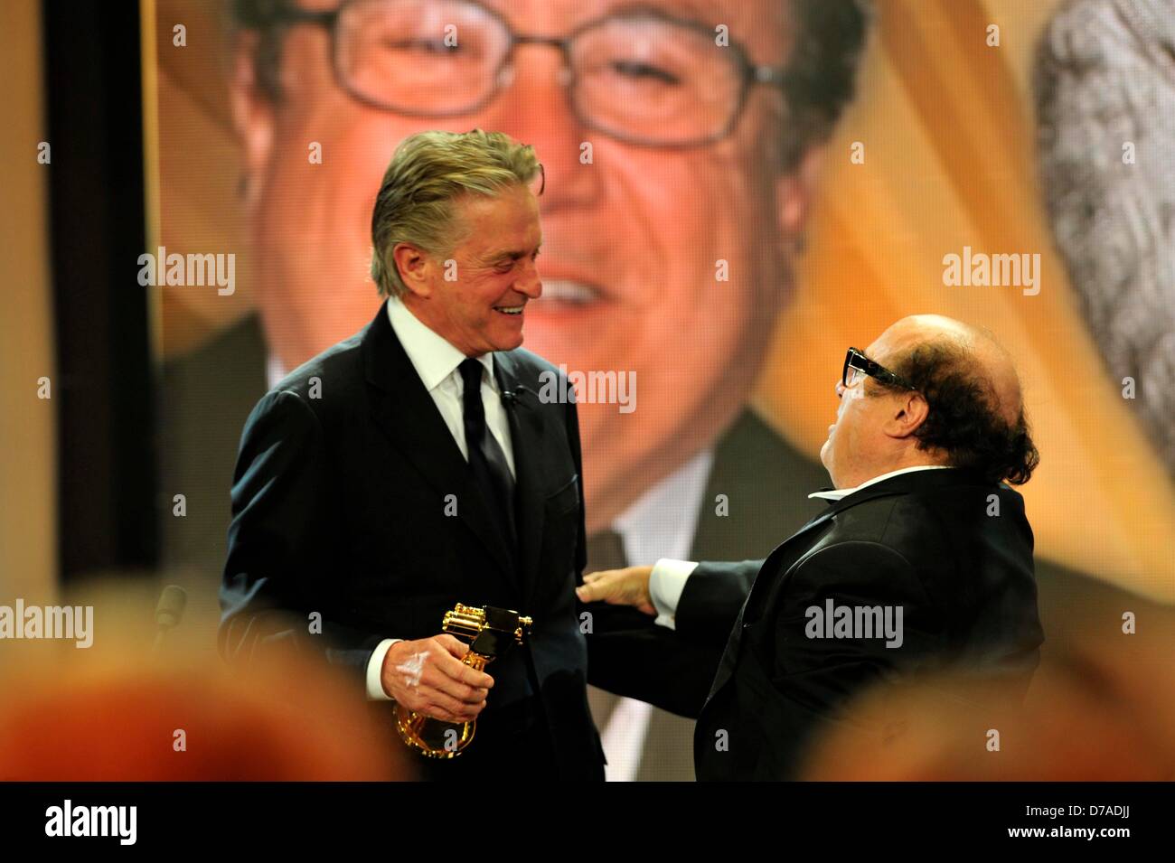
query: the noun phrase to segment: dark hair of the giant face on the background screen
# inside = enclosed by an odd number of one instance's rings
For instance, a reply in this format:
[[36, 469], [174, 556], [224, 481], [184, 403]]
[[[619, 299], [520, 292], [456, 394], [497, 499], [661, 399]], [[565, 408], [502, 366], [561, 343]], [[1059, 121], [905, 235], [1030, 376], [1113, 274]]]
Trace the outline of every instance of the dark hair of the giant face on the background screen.
[[[278, 100], [286, 27], [278, 13], [293, 0], [228, 0], [231, 25], [258, 34], [254, 58], [262, 92]], [[792, 9], [798, 36], [787, 66], [790, 122], [783, 160], [792, 167], [828, 137], [855, 92], [857, 68], [872, 16], [871, 0], [779, 0]]]

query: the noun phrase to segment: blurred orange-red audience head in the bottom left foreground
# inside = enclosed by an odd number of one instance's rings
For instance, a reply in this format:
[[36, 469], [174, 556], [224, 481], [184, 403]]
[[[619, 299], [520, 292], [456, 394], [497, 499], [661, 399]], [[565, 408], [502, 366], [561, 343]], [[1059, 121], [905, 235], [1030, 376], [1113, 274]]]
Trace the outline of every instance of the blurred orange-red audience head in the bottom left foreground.
[[411, 778], [390, 724], [324, 662], [230, 669], [179, 631], [156, 653], [152, 632], [128, 635], [150, 620], [132, 600], [95, 605], [89, 648], [0, 642], [0, 780]]

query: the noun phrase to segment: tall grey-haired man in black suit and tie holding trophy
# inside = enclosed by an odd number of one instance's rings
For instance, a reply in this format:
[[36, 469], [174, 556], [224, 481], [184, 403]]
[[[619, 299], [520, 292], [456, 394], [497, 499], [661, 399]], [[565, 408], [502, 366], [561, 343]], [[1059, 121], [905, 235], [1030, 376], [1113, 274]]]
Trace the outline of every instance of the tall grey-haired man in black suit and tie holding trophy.
[[[539, 399], [558, 372], [521, 349], [538, 173], [501, 133], [408, 139], [372, 216], [387, 303], [261, 399], [234, 477], [222, 650], [309, 641], [369, 699], [478, 719], [459, 757], [422, 763], [436, 778], [603, 778], [573, 593], [576, 405]], [[437, 635], [456, 602], [533, 631], [476, 672]]]

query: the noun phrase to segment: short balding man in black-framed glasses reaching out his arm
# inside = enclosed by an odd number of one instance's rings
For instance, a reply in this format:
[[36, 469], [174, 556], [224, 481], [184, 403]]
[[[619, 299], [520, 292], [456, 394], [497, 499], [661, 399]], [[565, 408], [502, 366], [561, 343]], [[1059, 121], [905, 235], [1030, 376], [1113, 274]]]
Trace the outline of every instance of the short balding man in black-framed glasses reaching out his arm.
[[905, 318], [851, 350], [821, 460], [831, 507], [765, 561], [658, 561], [586, 577], [683, 638], [725, 640], [694, 733], [699, 778], [794, 776], [865, 687], [952, 667], [1027, 688], [1043, 640], [1023, 500], [1038, 456], [988, 337]]

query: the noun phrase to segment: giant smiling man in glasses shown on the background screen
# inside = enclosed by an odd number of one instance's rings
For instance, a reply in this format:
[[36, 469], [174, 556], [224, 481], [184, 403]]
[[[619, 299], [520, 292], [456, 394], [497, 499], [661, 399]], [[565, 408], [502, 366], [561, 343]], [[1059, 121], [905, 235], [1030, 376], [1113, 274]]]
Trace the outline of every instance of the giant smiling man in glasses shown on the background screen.
[[[244, 144], [242, 207], [249, 215], [257, 252], [253, 296], [264, 302], [162, 370], [159, 449], [166, 501], [163, 553], [168, 578], [188, 584], [194, 599], [206, 592], [207, 579], [215, 578], [224, 560], [224, 488], [231, 479], [241, 423], [257, 397], [281, 379], [283, 368], [297, 365], [352, 332], [375, 311], [375, 296], [363, 289], [357, 275], [362, 271], [349, 262], [369, 244], [367, 204], [361, 202], [387, 164], [387, 151], [381, 147], [391, 148], [410, 133], [452, 122], [421, 116], [429, 104], [419, 97], [411, 102], [414, 110], [402, 115], [372, 110], [370, 100], [361, 103], [354, 97], [355, 89], [341, 83], [283, 87], [291, 80], [331, 79], [330, 34], [311, 21], [329, 15], [301, 15], [296, 6], [255, 0], [235, 0], [230, 6], [240, 28], [231, 89], [237, 133]], [[378, 8], [377, 4], [348, 6]], [[549, 6], [540, 0], [511, 2], [502, 6], [501, 15], [477, 20], [505, 18], [517, 33], [569, 35], [577, 22], [602, 20], [613, 8], [626, 12], [612, 0], [585, 0], [558, 9]], [[798, 492], [825, 481], [813, 453], [799, 451], [768, 427], [751, 407], [750, 397], [776, 316], [791, 298], [794, 249], [805, 204], [814, 190], [811, 180], [819, 175], [819, 160], [812, 159], [810, 164], [806, 157], [819, 154], [853, 93], [866, 31], [861, 15], [865, 4], [717, 0], [710, 18], [698, 18], [694, 5], [684, 0], [665, 0], [662, 6], [670, 16], [696, 19], [710, 27], [726, 22], [731, 45], [745, 45], [738, 53], [788, 69], [786, 110], [772, 107], [768, 96], [774, 97], [773, 88], [764, 85], [752, 87], [745, 104], [732, 101], [732, 107], [744, 108], [730, 126], [733, 137], [724, 144], [733, 146], [733, 157], [721, 147], [632, 148], [623, 142], [610, 144], [609, 136], [600, 135], [593, 139], [595, 163], [584, 164], [578, 150], [568, 146], [569, 141], [578, 144], [584, 140], [573, 116], [579, 103], [558, 87], [542, 92], [508, 88], [470, 114], [474, 120], [468, 123], [516, 130], [546, 154], [551, 189], [542, 202], [549, 279], [539, 302], [555, 304], [559, 311], [544, 319], [533, 313], [540, 305], [528, 309], [528, 344], [570, 369], [639, 371], [640, 411], [629, 414], [597, 407], [599, 423], [584, 425], [590, 480], [585, 494], [597, 521], [595, 527], [589, 524], [593, 534], [589, 551], [600, 550], [590, 553], [588, 566], [596, 569], [666, 555], [694, 560], [765, 557], [779, 540], [780, 525], [799, 525], [821, 506]], [[539, 13], [546, 21], [542, 27], [536, 26]], [[301, 23], [291, 26], [282, 20], [290, 14]], [[777, 19], [783, 31], [766, 26]], [[638, 15], [636, 23], [645, 38], [647, 21]], [[351, 34], [378, 32], [350, 28]], [[610, 32], [623, 31], [612, 27]], [[777, 32], [786, 38], [777, 39]], [[314, 39], [322, 43], [311, 42]], [[620, 43], [636, 42], [622, 39]], [[738, 55], [726, 49], [719, 53], [727, 60]], [[372, 52], [370, 56], [381, 54]], [[463, 62], [459, 53], [454, 56]], [[553, 79], [556, 70], [548, 66], [546, 56], [540, 48], [518, 52], [512, 58], [518, 73], [515, 77]], [[432, 58], [438, 61], [444, 53], [434, 52]], [[179, 54], [167, 62], [180, 63], [180, 72], [186, 68]], [[397, 68], [408, 70], [405, 86], [417, 80], [415, 63]], [[492, 70], [488, 65], [485, 68]], [[396, 69], [383, 69], [369, 81], [390, 86], [396, 76]], [[618, 88], [629, 87], [627, 75], [613, 79]], [[602, 104], [615, 106], [618, 99], [622, 96], [604, 99]], [[213, 95], [202, 101], [217, 103]], [[636, 116], [647, 114], [637, 112]], [[322, 117], [330, 117], [330, 122], [323, 123]], [[778, 137], [781, 153], [761, 146], [764, 129], [772, 130], [768, 137]], [[626, 141], [633, 140], [633, 133], [627, 130]], [[345, 153], [347, 157], [328, 159], [308, 169], [301, 150], [306, 141], [323, 141], [323, 135], [330, 136], [324, 141], [328, 153]], [[607, 153], [613, 146], [622, 149]], [[607, 188], [657, 189], [659, 194], [630, 200], [593, 193], [592, 183], [600, 177], [607, 178], [603, 181]], [[629, 182], [630, 177], [640, 177], [640, 182]], [[699, 194], [699, 183], [711, 193]], [[754, 194], [746, 196], [746, 190]], [[291, 200], [300, 205], [291, 207]], [[759, 204], [764, 202], [779, 213], [779, 220], [761, 217]], [[631, 217], [634, 213], [639, 217]], [[314, 217], [308, 218], [308, 214]], [[689, 217], [682, 221], [682, 214]], [[617, 242], [627, 232], [643, 230], [651, 234], [639, 242]], [[679, 265], [686, 259], [682, 249], [706, 248], [705, 243], [725, 236], [726, 230], [731, 236], [713, 255], [690, 256], [700, 269]], [[746, 250], [739, 252], [745, 265], [732, 259], [736, 249]], [[780, 256], [774, 265], [763, 271], [751, 267], [752, 261], [767, 261], [764, 250], [773, 255], [777, 249]], [[717, 257], [732, 259], [736, 272], [752, 274], [727, 283], [719, 306], [709, 302]], [[598, 286], [613, 289], [609, 302], [565, 302], [560, 295], [569, 285], [560, 283], [577, 272], [588, 274], [585, 278]], [[651, 284], [649, 272], [659, 274], [656, 302], [644, 290]], [[244, 304], [246, 291], [223, 299]], [[323, 313], [328, 308], [330, 313]], [[674, 318], [670, 311], [692, 322]], [[719, 312], [731, 315], [738, 325], [716, 326]], [[679, 350], [680, 333], [690, 331], [713, 338], [725, 333], [725, 342], [712, 351], [685, 352]], [[649, 339], [636, 337], [637, 332], [656, 333], [660, 348], [651, 348]], [[692, 372], [684, 365], [686, 353], [698, 360]], [[721, 373], [710, 373], [714, 369]], [[653, 398], [656, 382], [664, 393], [660, 409]], [[697, 411], [703, 403], [707, 409]], [[672, 422], [678, 412], [689, 412], [687, 420]], [[653, 426], [642, 425], [646, 420]], [[647, 458], [633, 461], [620, 457], [625, 452], [643, 452]], [[592, 483], [600, 493], [593, 493]], [[610, 488], [612, 492], [604, 493]], [[186, 498], [183, 518], [173, 517], [176, 493]], [[630, 518], [639, 514], [633, 510], [642, 508], [638, 505], [649, 493], [689, 501], [696, 522], [676, 513], [680, 531], [651, 530], [664, 525], [656, 519], [649, 524], [649, 518]], [[716, 511], [719, 494], [731, 503], [730, 517]], [[609, 534], [610, 541], [591, 541], [600, 534]], [[1115, 626], [1123, 609], [1142, 604], [1103, 581], [1050, 561], [1038, 561], [1038, 579], [1050, 647]], [[604, 645], [591, 649], [599, 647]], [[605, 706], [597, 715], [602, 729], [607, 724], [607, 709]], [[651, 729], [649, 748], [631, 775], [691, 777], [689, 759], [671, 756], [686, 751], [683, 742], [692, 736], [692, 722], [653, 712], [651, 717], [631, 723], [639, 726], [631, 735], [634, 740], [645, 737], [646, 723]], [[617, 767], [619, 760], [612, 761]]]

